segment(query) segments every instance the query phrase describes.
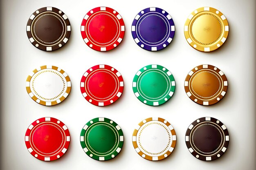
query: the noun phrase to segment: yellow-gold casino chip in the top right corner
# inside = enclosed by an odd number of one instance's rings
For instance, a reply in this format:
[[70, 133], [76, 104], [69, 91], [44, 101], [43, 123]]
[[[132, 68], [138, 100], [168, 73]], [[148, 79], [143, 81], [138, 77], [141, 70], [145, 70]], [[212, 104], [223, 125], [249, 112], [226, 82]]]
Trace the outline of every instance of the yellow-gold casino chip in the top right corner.
[[217, 9], [202, 7], [189, 15], [185, 22], [184, 34], [194, 49], [203, 52], [214, 51], [226, 41], [229, 24]]

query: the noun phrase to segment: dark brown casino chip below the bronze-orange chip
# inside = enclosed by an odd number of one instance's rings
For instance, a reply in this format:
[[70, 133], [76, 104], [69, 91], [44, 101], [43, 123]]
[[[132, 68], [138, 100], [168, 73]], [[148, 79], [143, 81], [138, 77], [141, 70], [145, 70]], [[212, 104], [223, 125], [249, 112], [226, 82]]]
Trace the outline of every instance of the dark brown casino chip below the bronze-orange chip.
[[202, 161], [213, 161], [227, 150], [229, 132], [221, 121], [213, 117], [201, 117], [189, 126], [185, 140], [194, 157]]

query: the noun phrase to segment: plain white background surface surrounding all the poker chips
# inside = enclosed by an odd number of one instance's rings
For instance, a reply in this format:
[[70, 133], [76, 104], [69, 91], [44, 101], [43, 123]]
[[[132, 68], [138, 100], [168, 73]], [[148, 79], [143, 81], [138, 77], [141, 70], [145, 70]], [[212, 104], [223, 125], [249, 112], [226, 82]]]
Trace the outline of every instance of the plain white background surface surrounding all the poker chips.
[[[253, 170], [255, 163], [255, 0], [2, 0], [1, 1], [1, 169], [2, 170]], [[36, 49], [29, 42], [26, 24], [30, 15], [41, 7], [61, 9], [72, 27], [70, 40], [54, 52]], [[114, 50], [98, 52], [83, 41], [80, 25], [90, 9], [99, 6], [118, 11], [126, 24], [124, 40]], [[229, 36], [217, 51], [196, 51], [184, 38], [184, 23], [199, 7], [214, 7], [224, 13], [229, 22]], [[159, 7], [170, 13], [175, 23], [173, 42], [164, 50], [150, 52], [141, 49], [132, 39], [131, 24], [135, 15], [147, 7]], [[27, 75], [41, 65], [63, 68], [72, 81], [72, 90], [65, 101], [56, 106], [41, 106], [25, 89]], [[87, 102], [80, 92], [80, 79], [91, 66], [108, 64], [124, 77], [124, 93], [114, 104], [97, 107]], [[142, 104], [133, 94], [135, 73], [148, 64], [159, 64], [174, 75], [176, 91], [164, 105]], [[228, 79], [228, 91], [216, 105], [200, 106], [187, 97], [184, 79], [189, 71], [201, 64], [220, 68]], [[229, 130], [230, 143], [218, 160], [205, 162], [193, 157], [185, 144], [188, 126], [200, 117], [215, 117]], [[44, 162], [28, 152], [24, 136], [28, 126], [40, 117], [55, 117], [70, 130], [71, 143], [65, 155], [57, 161]], [[79, 136], [84, 124], [94, 117], [108, 117], [124, 132], [124, 147], [110, 161], [95, 161], [80, 146]], [[147, 117], [168, 120], [177, 133], [173, 153], [162, 161], [141, 158], [132, 146], [136, 124]]]

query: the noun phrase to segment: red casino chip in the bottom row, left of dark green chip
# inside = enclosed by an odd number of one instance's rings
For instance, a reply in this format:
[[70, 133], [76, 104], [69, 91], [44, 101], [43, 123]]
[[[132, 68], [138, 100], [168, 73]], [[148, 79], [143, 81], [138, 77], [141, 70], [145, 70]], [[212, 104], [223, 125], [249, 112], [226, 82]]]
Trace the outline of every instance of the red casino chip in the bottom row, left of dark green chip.
[[62, 157], [70, 145], [67, 126], [53, 117], [34, 121], [25, 135], [27, 150], [42, 161], [54, 161]]

